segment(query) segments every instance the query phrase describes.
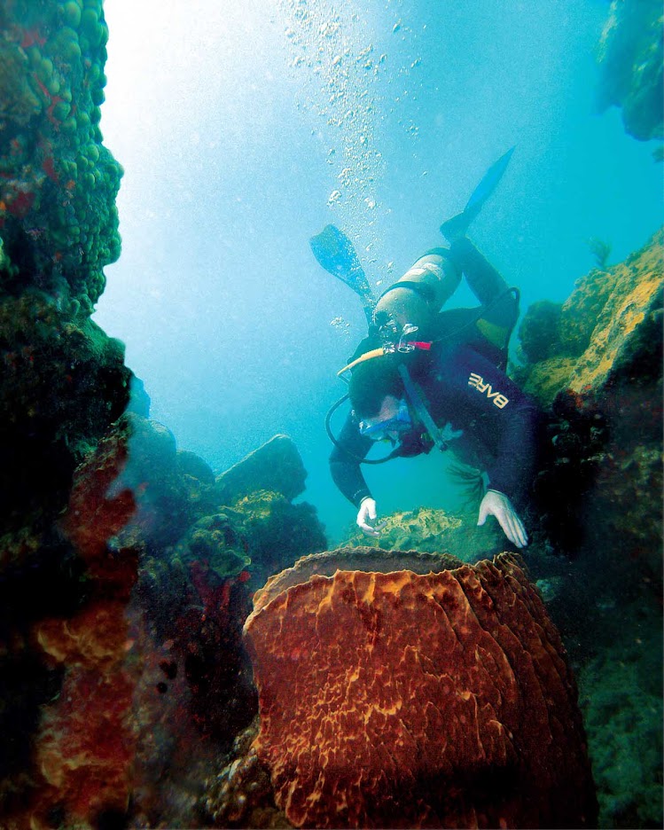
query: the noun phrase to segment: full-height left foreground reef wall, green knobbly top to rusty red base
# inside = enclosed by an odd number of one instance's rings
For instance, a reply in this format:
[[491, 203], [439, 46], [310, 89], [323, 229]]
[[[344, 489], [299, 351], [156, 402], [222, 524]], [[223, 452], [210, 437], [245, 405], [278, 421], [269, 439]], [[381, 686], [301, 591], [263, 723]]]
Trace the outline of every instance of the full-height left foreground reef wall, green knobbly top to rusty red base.
[[[120, 251], [121, 168], [98, 129], [107, 35], [96, 0], [0, 7], [3, 826], [59, 826], [70, 808], [98, 818], [129, 797], [123, 612], [136, 557], [110, 560], [96, 531], [74, 540], [63, 524], [74, 470], [129, 401], [123, 347], [90, 320]], [[104, 533], [131, 498], [113, 510]]]

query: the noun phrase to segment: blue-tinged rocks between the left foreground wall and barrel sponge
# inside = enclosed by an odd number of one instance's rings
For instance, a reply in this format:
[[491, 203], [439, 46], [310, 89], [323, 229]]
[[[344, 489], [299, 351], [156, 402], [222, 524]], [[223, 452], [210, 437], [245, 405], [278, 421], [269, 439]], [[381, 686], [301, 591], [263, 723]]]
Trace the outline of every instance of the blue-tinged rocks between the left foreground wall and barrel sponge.
[[[310, 505], [293, 505], [281, 493], [256, 489], [266, 481], [262, 467], [254, 461], [262, 448], [247, 457], [246, 468], [244, 460], [232, 468], [235, 481], [242, 482], [235, 493], [249, 495], [224, 505], [219, 503], [219, 494], [231, 498], [233, 490], [217, 487], [214, 477], [209, 482], [204, 463], [193, 454], [182, 464], [175, 439], [165, 427], [135, 414], [129, 422], [137, 427], [129, 442], [129, 473], [122, 474], [116, 486], [130, 484], [137, 493], [137, 513], [119, 541], [134, 541], [142, 549], [137, 599], [147, 632], [144, 648], [152, 667], [147, 671], [154, 677], [155, 662], [169, 667], [175, 685], [169, 677], [156, 680], [164, 698], [160, 709], [174, 709], [175, 701], [185, 707], [182, 716], [195, 725], [212, 754], [208, 766], [200, 768], [200, 776], [208, 776], [215, 764], [213, 749], [217, 755], [230, 751], [236, 734], [256, 712], [251, 667], [241, 638], [251, 591], [274, 570], [324, 547], [324, 534]], [[280, 436], [266, 446], [268, 453], [280, 447], [271, 456], [270, 481], [287, 482], [293, 468], [301, 469], [290, 439]], [[280, 458], [286, 459], [283, 475], [279, 474]], [[191, 475], [193, 471], [198, 478]], [[225, 477], [222, 474], [217, 481]], [[168, 533], [158, 532], [164, 528]], [[152, 710], [150, 690], [155, 682], [143, 682], [141, 687], [145, 707]], [[174, 702], [168, 704], [170, 697]], [[163, 745], [171, 748], [162, 748], [161, 756], [154, 756], [149, 734], [156, 716], [146, 716], [148, 735], [139, 735], [140, 765], [146, 770], [140, 776], [149, 778], [151, 784], [145, 787], [147, 797], [137, 798], [136, 809], [162, 820], [163, 810], [168, 814], [164, 806], [168, 792], [183, 786], [184, 770], [194, 758], [198, 764], [201, 760], [198, 744], [182, 725], [161, 733]], [[175, 771], [184, 779], [171, 779]], [[162, 803], [154, 803], [155, 793], [161, 794]], [[206, 810], [199, 807], [201, 815]], [[174, 815], [174, 823], [182, 820], [182, 815]], [[200, 820], [191, 819], [194, 824]]]

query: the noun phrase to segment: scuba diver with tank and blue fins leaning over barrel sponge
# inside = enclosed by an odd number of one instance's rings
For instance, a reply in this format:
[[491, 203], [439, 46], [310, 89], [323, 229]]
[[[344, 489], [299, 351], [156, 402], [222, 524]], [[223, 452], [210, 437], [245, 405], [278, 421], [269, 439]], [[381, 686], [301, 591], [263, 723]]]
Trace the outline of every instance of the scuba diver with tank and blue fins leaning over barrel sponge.
[[[311, 239], [318, 262], [363, 297], [369, 322], [369, 335], [339, 372], [351, 372], [348, 395], [326, 419], [334, 443], [332, 479], [355, 505], [356, 523], [367, 536], [379, 536], [385, 522], [378, 522], [360, 465], [437, 447], [453, 450], [477, 472], [483, 492], [478, 526], [494, 516], [512, 544], [527, 545], [518, 511], [535, 474], [538, 411], [504, 373], [519, 292], [465, 236], [512, 150], [489, 168], [464, 211], [441, 225], [449, 247], [426, 252], [378, 301], [341, 231], [328, 225]], [[462, 276], [479, 308], [441, 310]], [[347, 398], [351, 411], [335, 437], [332, 413]], [[378, 441], [394, 449], [366, 459]]]

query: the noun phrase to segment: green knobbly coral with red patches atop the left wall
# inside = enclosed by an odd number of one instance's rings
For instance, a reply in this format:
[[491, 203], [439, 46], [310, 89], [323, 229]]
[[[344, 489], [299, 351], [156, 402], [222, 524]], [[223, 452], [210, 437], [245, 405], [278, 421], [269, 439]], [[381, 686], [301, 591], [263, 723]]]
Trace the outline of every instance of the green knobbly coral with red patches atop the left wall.
[[90, 313], [120, 254], [121, 167], [102, 144], [102, 0], [12, 0], [0, 11], [3, 292], [42, 288]]

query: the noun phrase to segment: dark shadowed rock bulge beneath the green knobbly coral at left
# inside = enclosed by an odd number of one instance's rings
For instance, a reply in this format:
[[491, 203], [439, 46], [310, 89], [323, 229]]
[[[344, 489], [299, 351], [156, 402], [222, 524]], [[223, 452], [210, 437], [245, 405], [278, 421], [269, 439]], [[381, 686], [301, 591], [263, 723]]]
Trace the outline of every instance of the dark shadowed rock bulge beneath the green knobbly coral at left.
[[0, 304], [0, 533], [64, 508], [74, 467], [129, 400], [123, 356], [119, 341], [89, 319], [71, 321], [45, 294]]

